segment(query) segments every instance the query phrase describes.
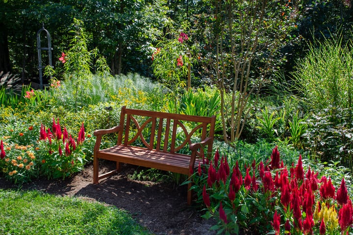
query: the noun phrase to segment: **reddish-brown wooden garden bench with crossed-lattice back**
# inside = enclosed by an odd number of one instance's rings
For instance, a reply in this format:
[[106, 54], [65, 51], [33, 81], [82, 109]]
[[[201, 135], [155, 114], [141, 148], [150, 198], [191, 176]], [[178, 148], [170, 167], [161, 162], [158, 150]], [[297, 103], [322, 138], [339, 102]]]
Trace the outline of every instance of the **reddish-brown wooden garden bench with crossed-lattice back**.
[[[188, 175], [211, 154], [216, 117], [199, 117], [122, 107], [120, 124], [96, 130], [93, 183], [120, 170], [120, 164], [134, 164]], [[104, 134], [118, 134], [117, 145], [100, 149]], [[188, 154], [178, 153], [188, 151]], [[116, 162], [116, 169], [99, 175], [99, 159]], [[188, 184], [187, 203], [192, 200]]]

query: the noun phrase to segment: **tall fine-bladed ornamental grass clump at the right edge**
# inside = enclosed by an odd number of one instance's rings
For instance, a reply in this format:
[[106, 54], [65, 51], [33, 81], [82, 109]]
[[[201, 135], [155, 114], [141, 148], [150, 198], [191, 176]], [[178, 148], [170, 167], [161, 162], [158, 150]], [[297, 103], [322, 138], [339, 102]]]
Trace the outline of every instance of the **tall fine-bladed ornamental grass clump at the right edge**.
[[352, 41], [342, 44], [342, 37], [309, 45], [309, 53], [293, 73], [298, 91], [316, 110], [334, 104], [353, 107]]

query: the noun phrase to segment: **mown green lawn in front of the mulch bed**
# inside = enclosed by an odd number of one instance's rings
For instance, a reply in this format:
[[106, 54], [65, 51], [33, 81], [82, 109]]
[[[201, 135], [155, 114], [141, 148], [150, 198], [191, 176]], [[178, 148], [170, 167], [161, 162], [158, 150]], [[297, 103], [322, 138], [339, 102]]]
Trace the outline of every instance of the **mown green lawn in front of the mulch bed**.
[[0, 189], [2, 235], [150, 235], [114, 206], [39, 191]]

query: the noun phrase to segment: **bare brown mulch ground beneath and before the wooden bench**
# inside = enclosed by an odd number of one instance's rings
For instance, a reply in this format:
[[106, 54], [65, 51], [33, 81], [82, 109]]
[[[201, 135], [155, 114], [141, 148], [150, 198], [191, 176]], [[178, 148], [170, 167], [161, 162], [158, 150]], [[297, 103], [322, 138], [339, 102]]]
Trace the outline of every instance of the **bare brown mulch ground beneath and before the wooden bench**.
[[[115, 164], [100, 163], [102, 171], [108, 171]], [[202, 213], [186, 203], [187, 188], [170, 183], [154, 183], [130, 180], [127, 177], [136, 169], [124, 165], [118, 174], [93, 184], [93, 166], [65, 180], [39, 179], [24, 184], [22, 189], [37, 189], [60, 196], [76, 196], [89, 201], [99, 201], [128, 211], [142, 226], [155, 235], [215, 235], [209, 229], [214, 220], [204, 220]], [[0, 181], [0, 188], [16, 186]]]

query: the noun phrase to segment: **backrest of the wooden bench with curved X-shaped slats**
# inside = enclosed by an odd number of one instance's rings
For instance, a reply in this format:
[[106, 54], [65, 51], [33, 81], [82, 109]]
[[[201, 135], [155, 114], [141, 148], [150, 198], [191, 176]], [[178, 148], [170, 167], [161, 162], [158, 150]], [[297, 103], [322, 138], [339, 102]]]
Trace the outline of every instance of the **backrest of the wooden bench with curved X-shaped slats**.
[[[214, 137], [216, 117], [134, 110], [122, 107], [118, 144], [143, 145], [148, 149], [176, 153], [193, 142]], [[181, 141], [180, 141], [181, 140]], [[134, 144], [135, 143], [135, 144]], [[212, 144], [207, 153], [212, 152]], [[200, 156], [203, 150], [198, 153]]]

